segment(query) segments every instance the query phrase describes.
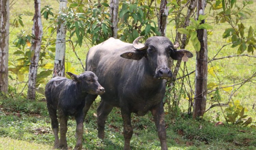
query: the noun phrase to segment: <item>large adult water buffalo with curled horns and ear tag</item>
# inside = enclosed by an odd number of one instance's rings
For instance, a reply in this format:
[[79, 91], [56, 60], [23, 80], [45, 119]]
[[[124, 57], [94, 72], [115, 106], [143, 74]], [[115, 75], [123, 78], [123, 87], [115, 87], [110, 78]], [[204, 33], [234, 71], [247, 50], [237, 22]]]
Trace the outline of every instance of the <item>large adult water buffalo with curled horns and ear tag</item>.
[[[124, 123], [124, 150], [130, 150], [133, 133], [131, 112], [139, 116], [152, 112], [157, 127], [161, 149], [167, 150], [166, 130], [163, 110], [166, 80], [172, 77], [168, 68], [169, 57], [181, 60], [184, 54], [193, 57], [191, 52], [180, 49], [163, 36], [154, 36], [145, 44], [133, 44], [114, 38], [89, 49], [86, 59], [86, 71], [94, 72], [106, 92], [101, 95], [98, 113], [98, 136], [104, 138], [105, 120], [113, 107], [120, 107]], [[97, 95], [88, 94], [84, 113]]]

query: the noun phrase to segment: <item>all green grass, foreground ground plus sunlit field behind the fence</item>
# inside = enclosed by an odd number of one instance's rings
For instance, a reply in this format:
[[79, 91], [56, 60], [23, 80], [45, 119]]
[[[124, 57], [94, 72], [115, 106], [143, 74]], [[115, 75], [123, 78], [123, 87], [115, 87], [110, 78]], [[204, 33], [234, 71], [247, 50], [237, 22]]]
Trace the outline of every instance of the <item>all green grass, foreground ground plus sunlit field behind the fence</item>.
[[[252, 26], [256, 27], [256, 2], [250, 5], [250, 8], [254, 11], [251, 12], [251, 16], [247, 15], [247, 18], [241, 19], [245, 26], [245, 31]], [[56, 0], [41, 0], [41, 7], [44, 5], [51, 5], [54, 9], [53, 12], [58, 12], [58, 2]], [[208, 7], [207, 7], [208, 9]], [[24, 27], [13, 27], [10, 26], [10, 54], [13, 54], [17, 50], [13, 46], [13, 41], [17, 38], [17, 34], [21, 30], [26, 33], [31, 33], [33, 25], [33, 2], [30, 0], [19, 0], [10, 9], [10, 22], [18, 17], [18, 14], [24, 14], [22, 16]], [[210, 18], [211, 19], [211, 18]], [[212, 20], [207, 22], [212, 22]], [[42, 18], [44, 31], [47, 31], [47, 27], [50, 25], [45, 19]], [[225, 28], [228, 28], [227, 23], [211, 24], [213, 30], [208, 35], [208, 55], [211, 59], [216, 52], [224, 45], [225, 42], [229, 42], [227, 39], [222, 38], [222, 34]], [[255, 29], [256, 30], [256, 29]], [[175, 33], [173, 24], [168, 24], [167, 36], [173, 41], [175, 38], [172, 37], [172, 33]], [[46, 33], [48, 35], [48, 33]], [[247, 33], [245, 33], [247, 34]], [[55, 35], [56, 36], [56, 35]], [[91, 45], [88, 45], [91, 47]], [[86, 54], [89, 49], [86, 44], [81, 47], [76, 47], [77, 55], [81, 58], [82, 62], [85, 63]], [[29, 48], [29, 47], [27, 47]], [[27, 50], [27, 48], [25, 50]], [[195, 70], [195, 55], [196, 52], [189, 43], [186, 49], [190, 50], [194, 57], [189, 59], [186, 63], [188, 72]], [[237, 47], [231, 48], [225, 46], [219, 57], [228, 55], [236, 55]], [[247, 54], [245, 51], [243, 54]], [[254, 54], [248, 54], [256, 56]], [[19, 56], [9, 55], [9, 61], [18, 63], [17, 59]], [[69, 43], [66, 43], [66, 60], [70, 62], [79, 62], [76, 58], [72, 47]], [[247, 79], [256, 71], [255, 58], [233, 57], [222, 60], [213, 61], [209, 64], [210, 67], [215, 67], [217, 75], [208, 74], [208, 83], [214, 82], [216, 84], [222, 83], [221, 86], [229, 86], [234, 83], [241, 82]], [[44, 63], [54, 63], [53, 60], [44, 60]], [[176, 63], [176, 62], [174, 62]], [[183, 63], [181, 68], [183, 69]], [[71, 63], [71, 67], [74, 68], [76, 73], [82, 73], [83, 68], [80, 64]], [[40, 70], [42, 71], [42, 69]], [[26, 90], [22, 92], [28, 76], [25, 73], [24, 81], [18, 81], [16, 75], [9, 72], [13, 80], [9, 80], [11, 93], [14, 98], [3, 98], [0, 97], [0, 149], [51, 149], [54, 142], [54, 136], [51, 130], [51, 123], [48, 117], [46, 109], [46, 103], [44, 96], [41, 94], [37, 95], [37, 101], [30, 102], [24, 99], [26, 97]], [[182, 76], [182, 72], [178, 76]], [[48, 76], [45, 80], [49, 80], [52, 76]], [[195, 74], [190, 75], [190, 80], [194, 88]], [[254, 82], [248, 82], [243, 85], [236, 94], [233, 95], [231, 101], [239, 100], [240, 103], [247, 108], [245, 112], [248, 117], [252, 117], [253, 122], [256, 121], [256, 108], [253, 105], [256, 103], [256, 79]], [[220, 82], [221, 81], [221, 82]], [[177, 81], [177, 85], [181, 83]], [[44, 85], [42, 85], [44, 88]], [[234, 87], [234, 89], [238, 86]], [[194, 89], [193, 89], [194, 90]], [[229, 99], [231, 91], [219, 90], [221, 95], [221, 102], [225, 103]], [[208, 96], [207, 108], [213, 103], [211, 101], [211, 95]], [[124, 143], [124, 137], [122, 134], [123, 123], [122, 117], [120, 116], [120, 110], [114, 108], [109, 115], [106, 122], [106, 138], [100, 140], [97, 137], [97, 118], [94, 116], [96, 113], [97, 106], [100, 99], [97, 99], [89, 110], [86, 121], [84, 123], [84, 143], [83, 149], [86, 150], [116, 150], [122, 149]], [[187, 99], [181, 99], [180, 109], [181, 114], [175, 117], [172, 114], [166, 113], [166, 124], [167, 124], [167, 138], [169, 150], [255, 150], [256, 149], [256, 131], [252, 128], [238, 127], [236, 125], [225, 124], [215, 126], [216, 118], [220, 118], [220, 121], [225, 122], [222, 110], [226, 107], [214, 107], [210, 109], [205, 117], [206, 121], [197, 121], [191, 119], [190, 116], [186, 115], [188, 101]], [[167, 111], [168, 108], [166, 108]], [[184, 112], [184, 113], [183, 113]], [[70, 118], [68, 121], [68, 133], [67, 140], [69, 148], [74, 148], [75, 145], [75, 121]], [[156, 127], [152, 121], [151, 114], [147, 114], [143, 117], [132, 116], [132, 125], [134, 128], [133, 136], [131, 139], [131, 146], [134, 150], [160, 150], [160, 141], [157, 136]]]

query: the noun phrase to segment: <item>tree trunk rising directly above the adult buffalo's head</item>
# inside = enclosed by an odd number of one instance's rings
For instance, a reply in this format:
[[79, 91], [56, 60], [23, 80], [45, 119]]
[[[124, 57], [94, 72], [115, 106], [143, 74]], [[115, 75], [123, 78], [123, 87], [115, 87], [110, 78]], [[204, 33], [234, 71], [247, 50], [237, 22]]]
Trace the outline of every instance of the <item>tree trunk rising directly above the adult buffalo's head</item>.
[[168, 18], [168, 7], [166, 6], [167, 0], [161, 0], [160, 11], [158, 17], [158, 27], [161, 36], [165, 36]]

